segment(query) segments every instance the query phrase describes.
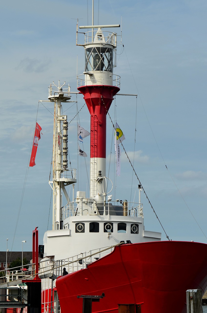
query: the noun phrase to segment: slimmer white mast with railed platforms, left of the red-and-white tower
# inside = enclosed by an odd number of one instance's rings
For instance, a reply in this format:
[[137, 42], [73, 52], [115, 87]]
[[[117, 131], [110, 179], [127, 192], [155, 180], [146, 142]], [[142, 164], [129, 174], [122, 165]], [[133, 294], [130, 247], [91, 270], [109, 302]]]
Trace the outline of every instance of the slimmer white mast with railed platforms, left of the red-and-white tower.
[[[62, 102], [70, 100], [70, 86], [63, 89], [63, 85], [50, 85], [48, 99], [54, 102], [53, 127], [53, 181], [49, 182], [53, 189], [53, 230], [62, 229], [62, 191], [67, 203], [70, 202], [65, 189], [67, 185], [76, 182], [75, 169], [68, 168], [68, 121], [67, 115], [61, 115]], [[63, 127], [63, 132], [61, 127]]]

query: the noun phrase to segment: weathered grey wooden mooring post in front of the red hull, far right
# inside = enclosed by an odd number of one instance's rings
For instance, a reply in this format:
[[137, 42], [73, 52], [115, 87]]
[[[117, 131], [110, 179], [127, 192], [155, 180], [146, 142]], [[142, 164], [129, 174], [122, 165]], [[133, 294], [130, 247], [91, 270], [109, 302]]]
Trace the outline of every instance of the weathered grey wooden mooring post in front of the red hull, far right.
[[187, 313], [203, 313], [202, 290], [189, 289], [186, 291]]

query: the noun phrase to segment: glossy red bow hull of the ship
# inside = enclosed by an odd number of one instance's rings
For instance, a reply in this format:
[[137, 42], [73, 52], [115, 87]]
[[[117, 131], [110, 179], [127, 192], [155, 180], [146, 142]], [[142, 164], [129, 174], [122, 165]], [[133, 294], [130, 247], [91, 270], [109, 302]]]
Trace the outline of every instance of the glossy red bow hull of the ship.
[[160, 241], [118, 246], [56, 281], [62, 313], [82, 312], [78, 295], [101, 295], [92, 312], [142, 303], [142, 313], [186, 312], [186, 290], [207, 289], [207, 244]]

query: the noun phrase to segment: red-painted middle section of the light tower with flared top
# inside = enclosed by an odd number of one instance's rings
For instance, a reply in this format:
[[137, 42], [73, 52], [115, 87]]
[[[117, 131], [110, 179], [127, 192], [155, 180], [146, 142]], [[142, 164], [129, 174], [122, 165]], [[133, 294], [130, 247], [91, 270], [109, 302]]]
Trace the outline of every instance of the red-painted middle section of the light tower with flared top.
[[78, 87], [91, 115], [90, 157], [106, 158], [106, 115], [113, 96], [120, 90], [115, 86], [89, 85]]

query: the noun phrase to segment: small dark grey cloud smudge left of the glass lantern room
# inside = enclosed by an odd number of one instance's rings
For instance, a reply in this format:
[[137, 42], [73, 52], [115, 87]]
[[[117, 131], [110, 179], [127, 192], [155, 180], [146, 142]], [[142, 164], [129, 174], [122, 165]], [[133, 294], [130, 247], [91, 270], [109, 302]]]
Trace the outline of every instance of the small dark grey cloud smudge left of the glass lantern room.
[[42, 73], [48, 69], [49, 63], [48, 59], [25, 58], [20, 61], [16, 69], [22, 69], [26, 73]]

